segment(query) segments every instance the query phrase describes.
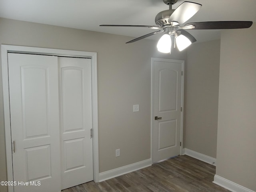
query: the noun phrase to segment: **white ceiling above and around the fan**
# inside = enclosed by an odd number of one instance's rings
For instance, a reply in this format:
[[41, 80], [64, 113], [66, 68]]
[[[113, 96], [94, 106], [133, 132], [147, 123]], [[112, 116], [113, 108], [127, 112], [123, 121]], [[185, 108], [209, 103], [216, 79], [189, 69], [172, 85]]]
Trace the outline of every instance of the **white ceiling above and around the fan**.
[[[191, 0], [202, 8], [188, 22], [256, 22], [256, 0]], [[177, 8], [184, 0], [178, 0]], [[162, 0], [0, 0], [0, 17], [83, 30], [139, 37], [150, 28], [100, 27], [100, 24], [155, 25]], [[220, 38], [220, 30], [188, 30], [198, 42]], [[162, 34], [148, 39], [157, 40]], [[132, 40], [133, 38], [131, 38]]]

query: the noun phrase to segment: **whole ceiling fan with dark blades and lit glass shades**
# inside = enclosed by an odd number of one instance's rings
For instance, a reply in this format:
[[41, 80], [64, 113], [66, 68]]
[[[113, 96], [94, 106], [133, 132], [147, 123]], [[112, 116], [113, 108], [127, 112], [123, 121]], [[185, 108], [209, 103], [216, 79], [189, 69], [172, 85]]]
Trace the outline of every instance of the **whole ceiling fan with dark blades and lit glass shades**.
[[163, 0], [163, 2], [169, 5], [169, 10], [164, 10], [156, 15], [156, 26], [145, 25], [100, 25], [100, 26], [114, 26], [114, 27], [147, 27], [152, 29], [161, 29], [144, 36], [138, 37], [126, 43], [136, 42], [138, 40], [147, 38], [154, 34], [164, 32], [164, 35], [159, 39], [157, 48], [158, 51], [163, 53], [170, 53], [172, 47], [172, 41], [174, 42], [174, 48], [177, 46], [178, 50], [182, 51], [187, 48], [193, 42], [196, 42], [194, 36], [192, 36], [187, 29], [238, 29], [249, 28], [252, 26], [252, 21], [208, 21], [208, 22], [194, 22], [181, 26], [187, 20], [189, 20], [194, 14], [196, 14], [201, 4], [185, 1], [178, 8], [172, 9], [172, 5], [178, 0]]

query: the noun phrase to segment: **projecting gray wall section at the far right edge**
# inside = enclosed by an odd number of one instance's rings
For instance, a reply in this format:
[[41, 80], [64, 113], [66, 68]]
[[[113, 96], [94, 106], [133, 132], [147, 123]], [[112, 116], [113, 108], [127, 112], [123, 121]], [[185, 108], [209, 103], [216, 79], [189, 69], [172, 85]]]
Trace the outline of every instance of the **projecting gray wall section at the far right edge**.
[[216, 174], [256, 191], [256, 25], [221, 33]]

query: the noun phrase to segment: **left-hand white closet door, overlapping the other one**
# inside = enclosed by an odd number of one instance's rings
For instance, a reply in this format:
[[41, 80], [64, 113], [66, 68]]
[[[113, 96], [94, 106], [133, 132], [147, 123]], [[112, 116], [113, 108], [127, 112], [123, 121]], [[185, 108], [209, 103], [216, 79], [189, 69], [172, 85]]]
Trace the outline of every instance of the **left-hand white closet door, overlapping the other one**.
[[60, 191], [57, 59], [8, 54], [15, 192]]

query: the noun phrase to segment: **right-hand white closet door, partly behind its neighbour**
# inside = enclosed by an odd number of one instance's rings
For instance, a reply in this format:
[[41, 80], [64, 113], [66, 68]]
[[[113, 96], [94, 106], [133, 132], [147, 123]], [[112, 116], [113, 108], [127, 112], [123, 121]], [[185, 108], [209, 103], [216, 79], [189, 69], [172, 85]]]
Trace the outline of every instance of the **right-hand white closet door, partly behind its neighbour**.
[[59, 57], [61, 188], [93, 180], [91, 60]]

